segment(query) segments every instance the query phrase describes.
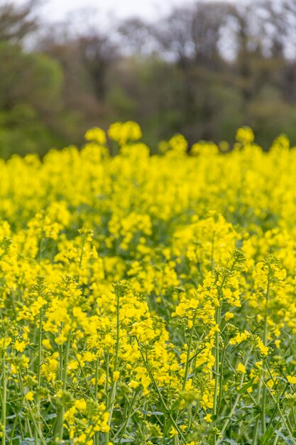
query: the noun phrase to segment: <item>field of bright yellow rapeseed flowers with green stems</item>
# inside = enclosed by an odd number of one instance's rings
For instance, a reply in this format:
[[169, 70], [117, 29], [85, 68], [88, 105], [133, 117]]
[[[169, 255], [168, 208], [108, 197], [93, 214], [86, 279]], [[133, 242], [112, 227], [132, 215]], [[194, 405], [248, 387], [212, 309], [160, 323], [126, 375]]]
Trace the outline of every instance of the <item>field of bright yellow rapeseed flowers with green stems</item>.
[[295, 444], [296, 150], [86, 137], [0, 163], [2, 445]]

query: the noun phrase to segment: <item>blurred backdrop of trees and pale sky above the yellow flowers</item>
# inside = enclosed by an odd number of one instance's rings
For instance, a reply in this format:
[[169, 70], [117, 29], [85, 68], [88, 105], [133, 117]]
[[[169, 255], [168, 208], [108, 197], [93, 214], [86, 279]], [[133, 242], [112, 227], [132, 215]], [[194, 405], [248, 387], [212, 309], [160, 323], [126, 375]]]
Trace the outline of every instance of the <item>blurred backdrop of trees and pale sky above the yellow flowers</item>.
[[129, 119], [152, 151], [241, 125], [295, 144], [296, 1], [0, 0], [1, 157]]

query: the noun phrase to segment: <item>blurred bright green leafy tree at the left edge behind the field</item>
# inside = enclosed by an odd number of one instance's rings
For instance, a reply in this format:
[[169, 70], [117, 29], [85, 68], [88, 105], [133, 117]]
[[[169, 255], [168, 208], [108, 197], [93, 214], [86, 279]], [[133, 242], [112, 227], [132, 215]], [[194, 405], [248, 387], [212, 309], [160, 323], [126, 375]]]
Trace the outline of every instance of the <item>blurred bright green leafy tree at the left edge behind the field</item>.
[[[1, 155], [45, 152], [59, 141], [62, 71], [45, 55], [0, 43]], [[23, 139], [22, 139], [23, 138]]]

